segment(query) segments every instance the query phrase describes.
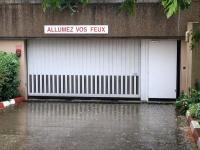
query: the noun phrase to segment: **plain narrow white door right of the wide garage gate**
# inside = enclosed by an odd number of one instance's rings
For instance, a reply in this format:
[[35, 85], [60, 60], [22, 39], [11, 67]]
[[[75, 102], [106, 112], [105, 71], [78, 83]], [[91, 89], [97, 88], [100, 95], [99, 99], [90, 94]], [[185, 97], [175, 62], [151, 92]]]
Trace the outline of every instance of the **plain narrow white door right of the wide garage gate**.
[[177, 41], [149, 41], [149, 98], [176, 98]]

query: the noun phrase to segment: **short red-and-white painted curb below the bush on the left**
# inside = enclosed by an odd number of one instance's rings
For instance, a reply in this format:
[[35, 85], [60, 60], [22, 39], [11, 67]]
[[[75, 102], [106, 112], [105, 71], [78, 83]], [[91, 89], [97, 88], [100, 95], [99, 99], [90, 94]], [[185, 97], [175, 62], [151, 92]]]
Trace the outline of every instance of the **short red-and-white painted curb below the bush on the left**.
[[24, 97], [16, 97], [14, 99], [10, 99], [10, 100], [7, 100], [7, 101], [3, 101], [3, 102], [0, 102], [0, 109], [4, 109], [10, 105], [15, 105], [15, 104], [18, 104], [18, 103], [21, 103], [25, 100]]

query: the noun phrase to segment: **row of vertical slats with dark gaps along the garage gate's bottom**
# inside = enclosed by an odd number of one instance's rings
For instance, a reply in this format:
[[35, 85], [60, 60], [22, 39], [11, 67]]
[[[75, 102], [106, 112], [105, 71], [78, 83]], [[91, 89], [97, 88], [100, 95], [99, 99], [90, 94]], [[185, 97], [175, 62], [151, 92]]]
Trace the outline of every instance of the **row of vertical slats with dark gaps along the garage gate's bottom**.
[[139, 97], [139, 76], [29, 74], [29, 96]]

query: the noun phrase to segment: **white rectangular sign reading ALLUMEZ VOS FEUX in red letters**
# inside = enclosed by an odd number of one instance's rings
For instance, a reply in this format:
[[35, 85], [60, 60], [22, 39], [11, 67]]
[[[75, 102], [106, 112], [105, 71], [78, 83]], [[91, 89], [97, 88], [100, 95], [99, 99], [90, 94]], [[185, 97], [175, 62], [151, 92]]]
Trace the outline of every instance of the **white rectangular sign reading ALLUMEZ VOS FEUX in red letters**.
[[45, 25], [45, 34], [108, 34], [108, 25]]

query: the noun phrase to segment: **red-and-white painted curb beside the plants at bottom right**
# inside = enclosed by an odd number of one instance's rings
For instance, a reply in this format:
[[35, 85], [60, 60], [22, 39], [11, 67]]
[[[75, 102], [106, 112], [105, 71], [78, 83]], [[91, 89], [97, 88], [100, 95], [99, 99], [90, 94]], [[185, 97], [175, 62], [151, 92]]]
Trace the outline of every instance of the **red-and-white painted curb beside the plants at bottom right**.
[[197, 121], [193, 120], [189, 111], [186, 112], [186, 118], [198, 149], [200, 149], [200, 125]]

